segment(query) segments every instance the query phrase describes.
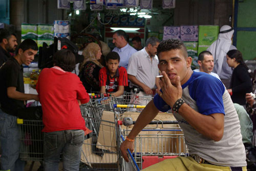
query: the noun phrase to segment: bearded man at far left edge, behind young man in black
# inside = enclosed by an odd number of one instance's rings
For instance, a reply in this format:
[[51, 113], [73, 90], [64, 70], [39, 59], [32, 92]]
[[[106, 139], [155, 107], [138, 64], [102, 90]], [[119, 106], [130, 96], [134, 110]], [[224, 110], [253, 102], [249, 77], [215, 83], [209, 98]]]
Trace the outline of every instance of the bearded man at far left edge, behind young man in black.
[[10, 33], [7, 29], [0, 29], [0, 66], [14, 53], [17, 47], [16, 34]]

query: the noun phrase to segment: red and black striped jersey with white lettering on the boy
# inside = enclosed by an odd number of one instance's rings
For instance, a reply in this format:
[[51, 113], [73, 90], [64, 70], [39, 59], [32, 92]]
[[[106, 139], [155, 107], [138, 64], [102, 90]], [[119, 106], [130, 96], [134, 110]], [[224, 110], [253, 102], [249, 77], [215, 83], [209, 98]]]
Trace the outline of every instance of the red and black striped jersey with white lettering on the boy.
[[111, 77], [108, 68], [101, 68], [99, 71], [99, 86], [106, 86], [106, 92], [115, 92], [118, 90], [118, 86], [128, 86], [126, 69], [119, 66], [114, 77]]

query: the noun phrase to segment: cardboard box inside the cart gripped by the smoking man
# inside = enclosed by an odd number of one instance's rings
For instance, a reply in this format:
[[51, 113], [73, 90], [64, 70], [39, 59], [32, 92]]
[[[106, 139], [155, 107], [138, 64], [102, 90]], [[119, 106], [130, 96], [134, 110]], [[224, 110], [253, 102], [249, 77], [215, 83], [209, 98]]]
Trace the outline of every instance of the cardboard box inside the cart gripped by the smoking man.
[[[131, 117], [136, 121], [140, 113], [124, 112], [123, 117]], [[159, 113], [153, 120], [173, 120], [175, 117], [172, 113]], [[128, 127], [131, 130], [133, 125]], [[184, 136], [178, 124], [162, 125], [147, 125], [136, 137], [136, 153], [185, 153]], [[121, 126], [121, 129], [126, 129], [126, 126]], [[146, 131], [148, 129], [148, 131]], [[152, 131], [156, 130], [156, 131]], [[162, 131], [166, 130], [166, 131]], [[129, 131], [126, 132], [129, 134]], [[180, 144], [180, 145], [179, 145]], [[181, 148], [181, 149], [179, 149]]]

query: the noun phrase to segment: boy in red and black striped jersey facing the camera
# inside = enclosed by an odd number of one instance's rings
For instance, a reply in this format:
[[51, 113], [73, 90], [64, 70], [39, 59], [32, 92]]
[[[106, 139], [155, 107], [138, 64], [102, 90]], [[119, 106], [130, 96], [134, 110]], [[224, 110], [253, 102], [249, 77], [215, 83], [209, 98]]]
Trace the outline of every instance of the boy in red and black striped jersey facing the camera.
[[99, 86], [101, 93], [112, 93], [116, 97], [123, 94], [124, 86], [128, 85], [127, 71], [119, 66], [118, 53], [111, 52], [106, 56], [106, 67], [99, 71]]

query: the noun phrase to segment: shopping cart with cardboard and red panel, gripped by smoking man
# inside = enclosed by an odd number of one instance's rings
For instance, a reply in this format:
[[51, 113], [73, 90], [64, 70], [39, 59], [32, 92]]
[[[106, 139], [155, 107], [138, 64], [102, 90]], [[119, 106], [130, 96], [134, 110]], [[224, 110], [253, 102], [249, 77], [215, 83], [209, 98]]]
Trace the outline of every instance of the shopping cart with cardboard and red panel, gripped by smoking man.
[[[115, 105], [115, 107], [124, 108], [125, 105]], [[126, 107], [143, 108], [145, 106], [126, 105]], [[131, 118], [129, 119], [131, 120]], [[119, 117], [119, 135], [126, 137], [129, 135], [131, 128], [121, 128], [122, 124], [124, 123], [120, 121]], [[134, 124], [135, 121], [131, 121], [127, 126]], [[120, 146], [121, 142], [122, 140], [120, 139], [118, 146]], [[152, 121], [137, 135], [134, 143], [135, 147], [132, 155], [140, 169], [144, 169], [165, 159], [175, 158], [177, 156], [188, 156], [184, 134], [176, 120]], [[124, 160], [122, 160], [122, 163], [123, 165], [126, 164]]]

